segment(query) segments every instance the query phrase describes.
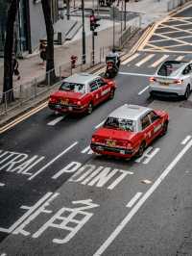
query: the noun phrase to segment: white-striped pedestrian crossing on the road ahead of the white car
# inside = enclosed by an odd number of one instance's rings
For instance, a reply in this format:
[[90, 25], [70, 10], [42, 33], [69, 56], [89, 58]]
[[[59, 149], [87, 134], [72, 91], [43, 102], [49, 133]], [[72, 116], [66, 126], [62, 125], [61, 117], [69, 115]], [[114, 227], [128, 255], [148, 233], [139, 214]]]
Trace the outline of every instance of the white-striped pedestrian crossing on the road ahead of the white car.
[[169, 54], [159, 54], [159, 53], [143, 53], [137, 52], [134, 53], [132, 56], [128, 57], [124, 60], [121, 64], [124, 66], [136, 66], [136, 67], [151, 67], [156, 68], [159, 64], [163, 63], [164, 61], [168, 60], [175, 60], [175, 61], [183, 61], [187, 60], [192, 62], [192, 60], [188, 60], [185, 55], [169, 55]]

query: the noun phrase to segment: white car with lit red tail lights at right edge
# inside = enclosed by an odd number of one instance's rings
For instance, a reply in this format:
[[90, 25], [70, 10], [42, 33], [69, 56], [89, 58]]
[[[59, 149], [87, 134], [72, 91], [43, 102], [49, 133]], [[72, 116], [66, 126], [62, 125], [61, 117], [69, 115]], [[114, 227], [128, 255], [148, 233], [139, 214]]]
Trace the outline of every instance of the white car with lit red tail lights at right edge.
[[192, 63], [166, 61], [150, 78], [151, 96], [183, 96], [187, 99], [192, 90]]

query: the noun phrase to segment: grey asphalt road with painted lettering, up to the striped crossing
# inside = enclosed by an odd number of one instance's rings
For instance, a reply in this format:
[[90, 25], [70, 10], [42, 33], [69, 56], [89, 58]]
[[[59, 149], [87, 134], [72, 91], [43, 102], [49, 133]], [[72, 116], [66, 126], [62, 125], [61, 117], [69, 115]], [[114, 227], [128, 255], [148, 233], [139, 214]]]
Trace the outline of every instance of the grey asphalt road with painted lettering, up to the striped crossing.
[[[45, 108], [1, 135], [0, 256], [192, 255], [192, 97], [147, 90], [160, 60], [181, 56], [137, 52], [91, 115]], [[168, 133], [140, 159], [93, 154], [92, 133], [125, 103], [166, 110]]]

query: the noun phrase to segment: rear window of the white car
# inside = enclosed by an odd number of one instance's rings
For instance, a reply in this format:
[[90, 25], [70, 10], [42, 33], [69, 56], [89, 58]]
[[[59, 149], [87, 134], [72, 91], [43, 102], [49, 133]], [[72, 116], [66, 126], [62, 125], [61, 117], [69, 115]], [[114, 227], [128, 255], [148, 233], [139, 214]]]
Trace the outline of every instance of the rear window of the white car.
[[182, 65], [182, 62], [167, 61], [160, 66], [160, 68], [157, 71], [157, 74], [160, 76], [170, 76], [171, 74], [173, 75], [173, 73], [177, 71]]

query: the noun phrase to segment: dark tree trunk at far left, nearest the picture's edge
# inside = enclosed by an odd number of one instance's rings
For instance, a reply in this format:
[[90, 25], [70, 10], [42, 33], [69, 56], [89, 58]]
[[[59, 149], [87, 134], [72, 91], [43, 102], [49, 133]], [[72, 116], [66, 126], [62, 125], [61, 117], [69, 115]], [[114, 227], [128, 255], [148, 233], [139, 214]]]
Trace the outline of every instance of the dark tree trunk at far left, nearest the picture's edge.
[[20, 0], [10, 1], [10, 7], [8, 9], [8, 18], [6, 25], [6, 40], [4, 47], [4, 94], [3, 101], [13, 101], [13, 90], [12, 90], [12, 48], [13, 48], [13, 30], [16, 13], [19, 8]]

